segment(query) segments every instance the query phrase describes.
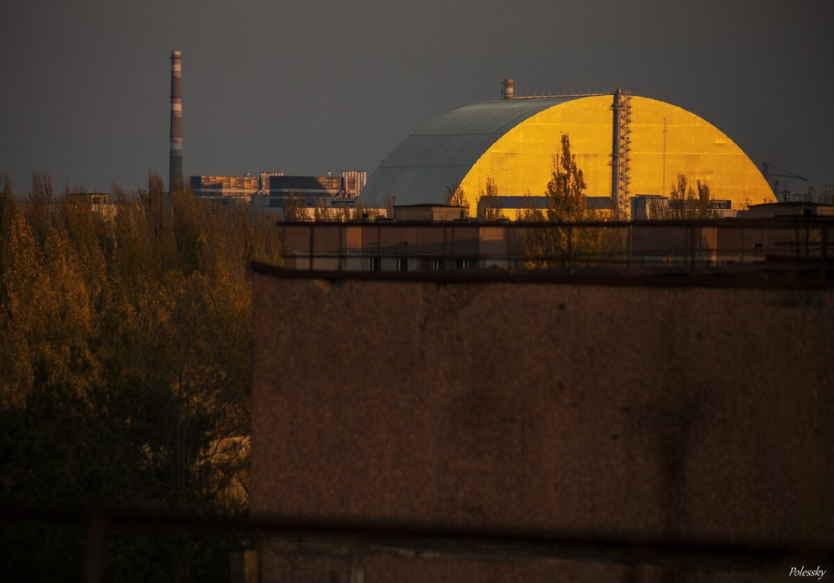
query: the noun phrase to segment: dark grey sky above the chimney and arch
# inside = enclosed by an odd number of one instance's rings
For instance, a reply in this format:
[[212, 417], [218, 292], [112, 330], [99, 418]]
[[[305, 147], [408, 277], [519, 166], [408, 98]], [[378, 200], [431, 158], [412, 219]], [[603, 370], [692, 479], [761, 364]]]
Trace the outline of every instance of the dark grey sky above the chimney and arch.
[[[168, 175], [172, 49], [183, 169], [371, 173], [431, 119], [516, 92], [620, 86], [834, 183], [834, 2], [9, 0], [0, 172], [108, 189]], [[791, 181], [791, 188], [804, 189]]]

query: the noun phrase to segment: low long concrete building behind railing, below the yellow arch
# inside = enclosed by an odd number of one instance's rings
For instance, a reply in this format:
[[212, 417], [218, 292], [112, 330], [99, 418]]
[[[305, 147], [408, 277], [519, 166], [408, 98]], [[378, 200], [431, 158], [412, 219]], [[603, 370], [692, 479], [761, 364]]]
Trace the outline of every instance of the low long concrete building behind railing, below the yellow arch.
[[[649, 199], [646, 204], [666, 201]], [[279, 225], [284, 265], [329, 271], [455, 271], [535, 269], [817, 269], [830, 272], [834, 222], [764, 205], [763, 219], [636, 220], [633, 223], [485, 223], [455, 218], [460, 207], [394, 207], [394, 220]], [[778, 210], [782, 209], [782, 210]], [[807, 210], [807, 209], [806, 209]], [[751, 208], [751, 212], [759, 212]], [[433, 212], [448, 213], [432, 218]], [[826, 271], [828, 270], [828, 271]], [[819, 274], [817, 276], [819, 276]], [[830, 277], [830, 275], [829, 275]]]

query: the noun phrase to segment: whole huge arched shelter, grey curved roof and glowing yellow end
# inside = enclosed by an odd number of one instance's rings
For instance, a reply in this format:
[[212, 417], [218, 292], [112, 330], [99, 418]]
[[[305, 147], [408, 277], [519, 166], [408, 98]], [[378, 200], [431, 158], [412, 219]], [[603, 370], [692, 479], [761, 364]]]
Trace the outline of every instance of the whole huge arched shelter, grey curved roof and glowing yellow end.
[[541, 197], [567, 134], [585, 176], [589, 207], [620, 209], [627, 216], [631, 197], [668, 197], [679, 173], [693, 185], [708, 183], [713, 199], [730, 201], [731, 209], [775, 201], [736, 143], [671, 103], [620, 90], [518, 98], [511, 79], [502, 96], [446, 113], [405, 138], [371, 175], [363, 199], [444, 203], [460, 187], [475, 209], [488, 178], [507, 202]]

